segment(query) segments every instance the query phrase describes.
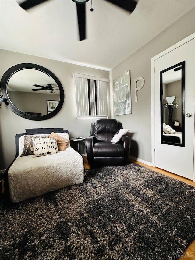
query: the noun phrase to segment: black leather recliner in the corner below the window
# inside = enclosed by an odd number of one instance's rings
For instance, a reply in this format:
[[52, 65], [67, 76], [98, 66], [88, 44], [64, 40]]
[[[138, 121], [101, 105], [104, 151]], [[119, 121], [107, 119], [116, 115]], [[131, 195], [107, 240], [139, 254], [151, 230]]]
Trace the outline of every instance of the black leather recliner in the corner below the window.
[[122, 136], [118, 143], [112, 137], [122, 128], [116, 119], [99, 119], [91, 124], [91, 135], [86, 138], [88, 164], [91, 166], [125, 165], [129, 158], [131, 139]]

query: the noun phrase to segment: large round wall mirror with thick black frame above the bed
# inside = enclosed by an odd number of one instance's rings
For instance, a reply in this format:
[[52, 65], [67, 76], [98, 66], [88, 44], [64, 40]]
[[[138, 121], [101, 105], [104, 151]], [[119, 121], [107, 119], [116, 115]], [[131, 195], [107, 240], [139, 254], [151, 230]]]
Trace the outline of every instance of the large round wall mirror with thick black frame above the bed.
[[59, 79], [36, 64], [21, 63], [9, 68], [0, 86], [5, 104], [26, 119], [49, 119], [59, 112], [64, 102]]

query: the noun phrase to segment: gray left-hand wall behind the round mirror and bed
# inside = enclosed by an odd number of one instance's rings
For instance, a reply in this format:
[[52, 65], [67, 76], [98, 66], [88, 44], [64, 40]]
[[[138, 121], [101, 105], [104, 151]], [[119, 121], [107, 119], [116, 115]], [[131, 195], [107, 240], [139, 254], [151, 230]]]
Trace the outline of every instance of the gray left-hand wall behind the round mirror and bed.
[[0, 169], [5, 169], [15, 158], [15, 135], [25, 133], [25, 128], [63, 127], [70, 137], [90, 135], [94, 119], [76, 119], [76, 99], [73, 73], [108, 78], [108, 71], [85, 66], [0, 50], [0, 78], [10, 67], [19, 63], [34, 63], [49, 69], [58, 77], [64, 88], [65, 100], [62, 109], [51, 119], [32, 121], [17, 116], [5, 104], [0, 109]]

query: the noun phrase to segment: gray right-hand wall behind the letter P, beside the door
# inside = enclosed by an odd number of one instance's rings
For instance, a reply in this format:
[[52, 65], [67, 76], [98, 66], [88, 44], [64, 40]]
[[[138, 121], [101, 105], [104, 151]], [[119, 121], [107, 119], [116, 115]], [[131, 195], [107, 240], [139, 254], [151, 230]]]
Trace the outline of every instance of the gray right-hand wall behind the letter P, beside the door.
[[[195, 8], [118, 64], [109, 73], [111, 117], [122, 122], [123, 128], [129, 128], [129, 135], [132, 138], [130, 155], [145, 162], [151, 163], [151, 58], [194, 32]], [[112, 81], [128, 70], [131, 74], [132, 114], [115, 116]], [[134, 102], [134, 79], [138, 77], [144, 77], [145, 85], [138, 91], [138, 102]]]

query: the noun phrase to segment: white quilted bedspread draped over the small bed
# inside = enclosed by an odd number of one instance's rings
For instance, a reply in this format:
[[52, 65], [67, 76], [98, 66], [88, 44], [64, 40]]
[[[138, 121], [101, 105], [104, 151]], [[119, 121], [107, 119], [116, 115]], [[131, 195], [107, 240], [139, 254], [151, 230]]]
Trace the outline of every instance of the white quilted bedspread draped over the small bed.
[[82, 183], [83, 180], [83, 158], [71, 147], [47, 156], [18, 156], [8, 171], [12, 202]]

